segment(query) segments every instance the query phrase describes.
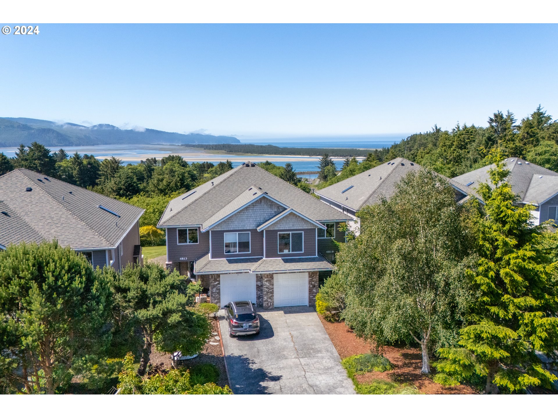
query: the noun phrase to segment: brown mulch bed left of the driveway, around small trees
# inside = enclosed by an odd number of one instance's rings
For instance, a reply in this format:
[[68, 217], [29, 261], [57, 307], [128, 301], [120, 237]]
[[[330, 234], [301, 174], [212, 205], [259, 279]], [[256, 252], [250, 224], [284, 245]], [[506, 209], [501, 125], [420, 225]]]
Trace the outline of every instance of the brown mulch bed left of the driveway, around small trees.
[[[225, 370], [225, 358], [223, 357], [223, 349], [221, 348], [221, 342], [215, 337], [219, 337], [219, 321], [215, 318], [211, 320], [211, 327], [213, 327], [212, 332], [217, 333], [217, 336], [211, 335], [209, 341], [205, 343], [203, 350], [200, 352], [198, 357], [190, 360], [185, 360], [179, 364], [180, 367], [189, 368], [195, 364], [211, 363], [215, 364], [219, 368], [219, 381], [218, 386], [228, 385], [227, 381], [227, 371]], [[219, 343], [209, 344], [209, 342]], [[170, 370], [171, 369], [171, 358], [169, 353], [161, 353], [156, 351], [154, 348], [150, 356], [150, 364], [159, 368], [160, 370]]]

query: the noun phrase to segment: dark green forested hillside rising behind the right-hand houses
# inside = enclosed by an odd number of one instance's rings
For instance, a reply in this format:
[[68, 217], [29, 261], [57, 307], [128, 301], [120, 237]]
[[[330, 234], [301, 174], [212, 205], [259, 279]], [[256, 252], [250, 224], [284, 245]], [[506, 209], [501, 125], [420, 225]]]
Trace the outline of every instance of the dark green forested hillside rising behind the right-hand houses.
[[334, 156], [327, 150], [320, 160], [318, 188], [376, 167], [383, 161], [405, 157], [446, 177], [455, 177], [484, 166], [486, 150], [498, 146], [504, 155], [528, 161], [558, 172], [558, 121], [540, 105], [521, 121], [508, 111], [497, 111], [488, 118], [487, 127], [456, 124], [451, 130], [434, 126], [426, 133], [413, 134], [389, 148], [368, 153], [362, 162], [345, 159], [336, 173]]

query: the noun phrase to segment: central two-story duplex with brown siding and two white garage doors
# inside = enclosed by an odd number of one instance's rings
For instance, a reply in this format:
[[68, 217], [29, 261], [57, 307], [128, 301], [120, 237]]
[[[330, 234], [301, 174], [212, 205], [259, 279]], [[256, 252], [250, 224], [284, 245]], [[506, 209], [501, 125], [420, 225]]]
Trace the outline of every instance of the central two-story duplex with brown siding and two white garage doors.
[[324, 254], [344, 241], [350, 217], [247, 162], [169, 202], [167, 265], [209, 289], [223, 306], [314, 305]]

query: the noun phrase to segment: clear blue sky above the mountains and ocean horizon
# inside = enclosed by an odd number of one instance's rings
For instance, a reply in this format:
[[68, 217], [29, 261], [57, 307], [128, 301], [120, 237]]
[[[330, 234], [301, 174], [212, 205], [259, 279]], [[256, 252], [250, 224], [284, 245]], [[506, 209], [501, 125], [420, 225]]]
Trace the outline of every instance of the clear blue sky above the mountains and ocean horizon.
[[39, 28], [0, 35], [0, 116], [239, 138], [558, 118], [557, 25]]

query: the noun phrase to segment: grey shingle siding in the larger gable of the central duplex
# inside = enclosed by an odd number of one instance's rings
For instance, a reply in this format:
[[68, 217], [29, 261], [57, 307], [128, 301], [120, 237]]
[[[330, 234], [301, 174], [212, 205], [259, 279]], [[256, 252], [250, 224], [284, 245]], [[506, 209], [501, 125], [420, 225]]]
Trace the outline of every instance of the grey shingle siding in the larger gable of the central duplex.
[[[278, 205], [267, 197], [260, 197], [257, 201], [218, 223], [212, 231], [239, 230], [244, 231], [256, 229], [263, 222], [270, 220], [273, 216], [281, 213], [285, 207]], [[213, 232], [211, 232], [213, 234]]]

